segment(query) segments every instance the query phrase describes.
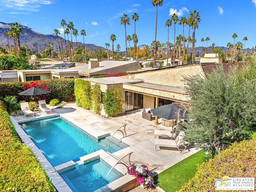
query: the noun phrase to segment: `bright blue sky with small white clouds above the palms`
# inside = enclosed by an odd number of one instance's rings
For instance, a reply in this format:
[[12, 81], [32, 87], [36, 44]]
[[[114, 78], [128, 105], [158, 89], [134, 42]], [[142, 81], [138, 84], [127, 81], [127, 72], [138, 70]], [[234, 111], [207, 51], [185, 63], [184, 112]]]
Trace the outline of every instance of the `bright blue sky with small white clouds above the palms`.
[[[256, 0], [163, 0], [163, 6], [158, 7], [157, 40], [167, 42], [167, 19], [174, 12], [181, 16], [190, 11], [199, 12], [201, 22], [196, 30], [196, 46], [202, 46], [201, 39], [209, 37], [208, 46], [226, 46], [234, 43], [232, 35], [236, 33], [241, 41], [246, 36], [245, 48], [256, 46]], [[72, 21], [74, 28], [86, 31], [85, 43], [105, 46], [109, 43], [110, 35], [116, 35], [114, 46], [120, 44], [125, 50], [124, 25], [120, 17], [128, 14], [130, 26], [126, 26], [127, 35], [134, 33], [132, 14], [139, 14], [136, 22], [138, 45], [150, 46], [155, 35], [156, 7], [151, 0], [0, 0], [0, 22], [18, 22], [42, 34], [53, 34], [59, 29], [64, 38], [62, 19]], [[170, 27], [169, 40], [173, 43], [174, 24]], [[176, 36], [182, 34], [182, 25], [176, 24]], [[185, 37], [188, 36], [188, 26], [185, 27]], [[192, 32], [190, 33], [192, 36]], [[70, 37], [69, 37], [70, 39]], [[74, 40], [74, 38], [73, 38]], [[81, 35], [78, 42], [83, 42]], [[129, 46], [129, 44], [128, 44]], [[132, 42], [131, 42], [131, 46]], [[204, 42], [204, 47], [206, 42]]]

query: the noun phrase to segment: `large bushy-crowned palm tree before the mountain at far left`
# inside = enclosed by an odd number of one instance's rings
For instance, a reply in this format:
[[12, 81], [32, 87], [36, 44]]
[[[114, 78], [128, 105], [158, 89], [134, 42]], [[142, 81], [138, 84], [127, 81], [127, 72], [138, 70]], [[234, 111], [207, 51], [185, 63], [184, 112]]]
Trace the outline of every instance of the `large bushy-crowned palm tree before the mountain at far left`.
[[10, 34], [12, 34], [12, 38], [14, 39], [14, 45], [16, 45], [16, 54], [17, 56], [20, 56], [20, 34], [24, 34], [22, 26], [15, 22], [9, 30]]

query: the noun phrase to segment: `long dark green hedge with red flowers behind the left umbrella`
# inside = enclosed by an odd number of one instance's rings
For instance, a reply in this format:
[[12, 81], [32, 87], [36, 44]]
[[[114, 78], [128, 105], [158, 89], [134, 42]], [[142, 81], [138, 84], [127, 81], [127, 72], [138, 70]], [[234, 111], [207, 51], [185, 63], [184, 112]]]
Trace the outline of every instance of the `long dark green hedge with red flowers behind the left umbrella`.
[[[41, 96], [20, 96], [19, 92], [27, 90], [32, 87], [49, 90], [50, 93]], [[50, 102], [52, 99], [60, 101], [74, 100], [74, 79], [54, 79], [54, 80], [37, 80], [30, 82], [7, 82], [0, 83], [0, 96], [17, 96], [18, 100], [30, 101], [33, 98], [40, 100], [46, 99]]]

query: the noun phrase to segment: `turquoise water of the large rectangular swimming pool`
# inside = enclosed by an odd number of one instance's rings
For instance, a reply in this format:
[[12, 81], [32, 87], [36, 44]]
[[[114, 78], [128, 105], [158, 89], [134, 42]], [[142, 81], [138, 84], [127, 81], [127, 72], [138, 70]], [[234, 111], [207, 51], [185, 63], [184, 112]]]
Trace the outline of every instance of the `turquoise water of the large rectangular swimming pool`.
[[96, 140], [60, 117], [25, 122], [21, 125], [52, 166], [70, 160], [76, 162], [81, 156], [100, 149], [113, 153], [127, 147], [106, 138]]

